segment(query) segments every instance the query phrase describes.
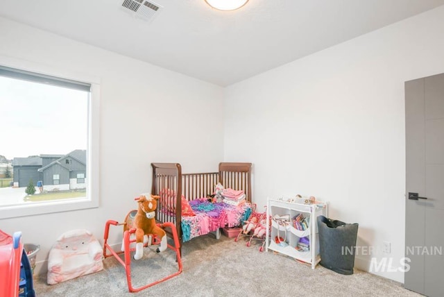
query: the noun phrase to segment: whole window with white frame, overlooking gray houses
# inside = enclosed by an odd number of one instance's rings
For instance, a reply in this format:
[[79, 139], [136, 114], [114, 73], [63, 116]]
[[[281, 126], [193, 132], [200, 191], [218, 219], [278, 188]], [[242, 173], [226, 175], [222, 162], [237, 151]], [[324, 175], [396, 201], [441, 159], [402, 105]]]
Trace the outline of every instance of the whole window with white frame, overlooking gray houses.
[[[1, 145], [12, 176], [0, 183], [8, 185], [0, 188], [0, 217], [97, 207], [99, 79], [30, 62], [27, 69], [14, 67], [24, 63], [0, 56], [0, 99], [8, 110], [2, 114], [1, 138], [14, 139]], [[80, 186], [70, 178], [74, 167], [89, 176], [76, 175]], [[30, 183], [39, 187], [26, 196]]]

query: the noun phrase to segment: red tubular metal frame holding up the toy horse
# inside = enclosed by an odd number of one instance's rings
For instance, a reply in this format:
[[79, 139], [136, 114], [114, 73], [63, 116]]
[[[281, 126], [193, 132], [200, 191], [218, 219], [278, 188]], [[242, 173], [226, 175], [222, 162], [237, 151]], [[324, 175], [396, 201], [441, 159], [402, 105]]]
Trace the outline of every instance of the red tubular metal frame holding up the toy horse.
[[[133, 210], [134, 212], [134, 210]], [[137, 212], [137, 211], [136, 211]], [[122, 226], [125, 225], [126, 223], [128, 223], [128, 218], [130, 217], [130, 213], [128, 213], [128, 215], [126, 216], [126, 220], [125, 223], [119, 223], [117, 221], [113, 221], [113, 220], [108, 220], [106, 222], [105, 225], [105, 232], [103, 234], [103, 257], [111, 257], [114, 256], [116, 257], [117, 261], [120, 262], [120, 264], [123, 265], [123, 267], [125, 268], [126, 271], [126, 281], [128, 282], [128, 290], [130, 292], [137, 292], [137, 291], [142, 291], [143, 289], [146, 289], [148, 287], [151, 287], [153, 285], [157, 285], [160, 282], [164, 282], [165, 280], [169, 280], [170, 278], [173, 278], [176, 275], [179, 275], [182, 272], [182, 260], [180, 259], [180, 241], [179, 241], [179, 237], [177, 235], [177, 230], [176, 230], [176, 226], [174, 226], [173, 223], [170, 222], [166, 222], [166, 223], [157, 223], [156, 225], [160, 228], [171, 228], [171, 231], [173, 233], [173, 240], [174, 240], [174, 246], [171, 246], [170, 244], [167, 244], [168, 248], [170, 248], [171, 250], [176, 252], [176, 262], [178, 262], [178, 271], [176, 271], [175, 273], [168, 275], [160, 280], [156, 280], [155, 282], [151, 282], [147, 285], [141, 286], [141, 287], [133, 287], [132, 282], [131, 282], [131, 257], [130, 257], [130, 253], [135, 251], [135, 248], [130, 248], [130, 244], [135, 242], [136, 239], [130, 239], [130, 235], [135, 233], [135, 228], [131, 228], [130, 230], [126, 230], [125, 232], [123, 232], [123, 245], [124, 245], [124, 251], [114, 251], [112, 249], [112, 247], [108, 244], [108, 235], [110, 232], [110, 225], [113, 226]], [[133, 236], [135, 237], [135, 236]], [[157, 238], [157, 236], [152, 235], [152, 243], [151, 244], [160, 244], [160, 239]], [[145, 244], [144, 246], [147, 246], [148, 244]], [[110, 251], [110, 254], [107, 253], [107, 249]], [[119, 255], [121, 253], [124, 253], [124, 260], [121, 260], [121, 257], [119, 257]]]

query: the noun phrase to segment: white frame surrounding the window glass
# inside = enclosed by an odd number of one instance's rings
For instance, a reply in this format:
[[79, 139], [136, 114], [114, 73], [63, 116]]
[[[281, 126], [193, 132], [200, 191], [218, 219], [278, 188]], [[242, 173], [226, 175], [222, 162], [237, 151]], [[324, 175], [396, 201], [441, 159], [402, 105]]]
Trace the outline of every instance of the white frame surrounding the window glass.
[[0, 206], [0, 219], [35, 216], [53, 212], [67, 212], [99, 207], [99, 124], [100, 124], [100, 78], [67, 69], [56, 69], [48, 65], [20, 60], [0, 55], [0, 65], [22, 69], [38, 74], [66, 78], [91, 84], [88, 106], [87, 139], [87, 195], [85, 198], [60, 199]]

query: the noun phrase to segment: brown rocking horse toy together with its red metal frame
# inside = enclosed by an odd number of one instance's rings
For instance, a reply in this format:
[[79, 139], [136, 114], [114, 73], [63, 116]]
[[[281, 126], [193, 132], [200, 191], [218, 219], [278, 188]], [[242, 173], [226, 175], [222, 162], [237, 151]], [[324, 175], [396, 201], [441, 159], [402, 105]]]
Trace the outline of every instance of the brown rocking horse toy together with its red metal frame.
[[[180, 259], [180, 242], [177, 234], [176, 226], [173, 223], [156, 223], [155, 222], [155, 210], [157, 207], [157, 200], [159, 196], [142, 194], [141, 196], [135, 198], [137, 201], [138, 208], [137, 210], [132, 210], [126, 215], [124, 223], [118, 223], [117, 221], [109, 220], [105, 225], [105, 232], [103, 235], [103, 256], [110, 257], [114, 256], [123, 265], [126, 270], [126, 280], [128, 282], [128, 290], [130, 292], [141, 291], [142, 289], [146, 289], [153, 285], [158, 284], [159, 282], [163, 282], [164, 280], [168, 280], [169, 278], [173, 278], [182, 272], [182, 260]], [[121, 226], [123, 225], [123, 243], [121, 247], [121, 251], [114, 251], [110, 244], [108, 244], [108, 235], [110, 231], [110, 225], [113, 226]], [[164, 231], [164, 228], [171, 228], [171, 233], [173, 234], [174, 246], [168, 244], [167, 234]], [[132, 244], [130, 246], [130, 244]], [[133, 245], [135, 244], [135, 248]], [[139, 260], [144, 255], [144, 247], [148, 245], [158, 245], [156, 252], [160, 253], [165, 251], [167, 248], [176, 252], [176, 262], [178, 262], [178, 271], [171, 275], [168, 275], [161, 280], [157, 280], [155, 282], [151, 282], [148, 285], [144, 285], [142, 287], [133, 287], [131, 284], [131, 259], [130, 253], [135, 252], [133, 259]], [[110, 251], [110, 254], [107, 253], [107, 250]], [[124, 261], [121, 260], [119, 255], [124, 253]]]

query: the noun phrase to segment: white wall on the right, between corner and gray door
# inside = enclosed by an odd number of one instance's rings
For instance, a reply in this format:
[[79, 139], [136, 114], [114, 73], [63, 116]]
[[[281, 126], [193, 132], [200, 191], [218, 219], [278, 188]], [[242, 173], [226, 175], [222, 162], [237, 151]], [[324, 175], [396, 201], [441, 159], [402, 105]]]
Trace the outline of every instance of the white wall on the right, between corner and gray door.
[[[328, 201], [329, 217], [359, 223], [358, 246], [400, 268], [404, 81], [444, 72], [443, 28], [441, 6], [228, 87], [225, 160], [253, 162], [258, 206], [267, 196]], [[356, 266], [368, 270], [371, 257]]]

